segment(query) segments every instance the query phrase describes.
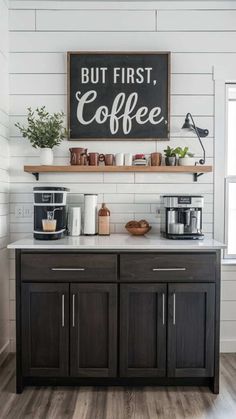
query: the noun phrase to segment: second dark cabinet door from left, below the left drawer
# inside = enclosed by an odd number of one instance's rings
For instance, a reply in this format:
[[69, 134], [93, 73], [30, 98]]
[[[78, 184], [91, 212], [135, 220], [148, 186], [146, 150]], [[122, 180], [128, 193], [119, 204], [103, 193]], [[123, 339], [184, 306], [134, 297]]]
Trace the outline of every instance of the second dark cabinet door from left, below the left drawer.
[[77, 377], [114, 377], [117, 286], [71, 284], [71, 368]]

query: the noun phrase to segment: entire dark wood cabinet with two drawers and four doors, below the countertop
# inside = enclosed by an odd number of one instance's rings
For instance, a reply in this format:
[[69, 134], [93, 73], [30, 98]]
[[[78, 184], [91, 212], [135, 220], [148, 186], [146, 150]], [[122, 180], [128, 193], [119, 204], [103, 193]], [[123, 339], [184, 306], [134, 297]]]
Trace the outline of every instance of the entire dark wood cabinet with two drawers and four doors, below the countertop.
[[220, 251], [18, 250], [16, 273], [17, 392], [29, 384], [219, 392]]

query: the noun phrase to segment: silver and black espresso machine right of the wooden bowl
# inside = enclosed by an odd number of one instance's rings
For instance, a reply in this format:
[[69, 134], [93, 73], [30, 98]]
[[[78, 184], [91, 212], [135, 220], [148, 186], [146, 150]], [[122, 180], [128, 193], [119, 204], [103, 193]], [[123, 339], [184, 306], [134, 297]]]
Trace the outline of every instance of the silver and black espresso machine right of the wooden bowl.
[[161, 234], [168, 239], [203, 239], [200, 195], [161, 197]]

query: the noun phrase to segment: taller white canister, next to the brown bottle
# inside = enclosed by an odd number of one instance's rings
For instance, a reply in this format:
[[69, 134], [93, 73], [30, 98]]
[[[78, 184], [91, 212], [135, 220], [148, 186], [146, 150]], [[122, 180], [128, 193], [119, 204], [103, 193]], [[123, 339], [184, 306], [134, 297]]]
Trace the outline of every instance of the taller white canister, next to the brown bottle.
[[97, 234], [98, 196], [96, 194], [84, 195], [84, 234]]

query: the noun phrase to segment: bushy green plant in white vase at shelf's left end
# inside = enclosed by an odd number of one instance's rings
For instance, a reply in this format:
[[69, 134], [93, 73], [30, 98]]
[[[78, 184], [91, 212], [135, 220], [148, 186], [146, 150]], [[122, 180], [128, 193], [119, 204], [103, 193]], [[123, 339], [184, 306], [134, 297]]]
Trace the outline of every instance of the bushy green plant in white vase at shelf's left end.
[[59, 145], [67, 137], [64, 128], [64, 113], [49, 114], [45, 106], [33, 111], [28, 108], [27, 126], [19, 122], [15, 124], [19, 128], [23, 138], [28, 138], [34, 148], [40, 148], [40, 163], [51, 165], [53, 163], [53, 147]]

